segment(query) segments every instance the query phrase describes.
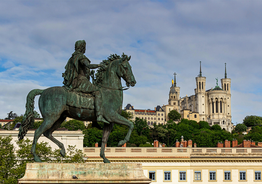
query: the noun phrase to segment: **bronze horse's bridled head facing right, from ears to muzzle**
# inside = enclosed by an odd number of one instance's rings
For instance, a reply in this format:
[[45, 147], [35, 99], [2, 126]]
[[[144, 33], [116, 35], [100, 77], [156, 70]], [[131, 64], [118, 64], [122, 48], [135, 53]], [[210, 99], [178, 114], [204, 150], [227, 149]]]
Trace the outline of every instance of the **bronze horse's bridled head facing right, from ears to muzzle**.
[[125, 80], [126, 86], [135, 86], [136, 79], [133, 75], [131, 66], [129, 64], [131, 56], [127, 57], [127, 55], [122, 55], [122, 60], [119, 62], [119, 68], [118, 68], [118, 76], [122, 77]]

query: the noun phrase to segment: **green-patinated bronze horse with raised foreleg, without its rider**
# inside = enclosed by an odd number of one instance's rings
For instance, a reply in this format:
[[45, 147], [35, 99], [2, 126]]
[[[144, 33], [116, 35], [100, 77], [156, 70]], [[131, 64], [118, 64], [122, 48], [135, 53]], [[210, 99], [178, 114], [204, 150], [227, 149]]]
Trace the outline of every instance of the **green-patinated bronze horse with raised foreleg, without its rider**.
[[[104, 124], [102, 146], [100, 157], [103, 158], [104, 163], [110, 163], [105, 157], [105, 145], [107, 143], [109, 134], [114, 126], [126, 125], [129, 127], [127, 135], [124, 140], [120, 140], [118, 146], [124, 145], [129, 141], [131, 132], [134, 128], [133, 122], [128, 121], [120, 114], [122, 112], [123, 103], [123, 87], [121, 78], [126, 82], [127, 87], [135, 86], [136, 80], [133, 75], [131, 66], [129, 64], [130, 57], [127, 55], [111, 55], [108, 60], [103, 60], [107, 66], [105, 71], [99, 70], [96, 73], [95, 85], [100, 86], [100, 91], [103, 95], [102, 111], [104, 118], [110, 122], [110, 125]], [[94, 109], [83, 109], [67, 105], [67, 93], [63, 87], [55, 86], [45, 90], [35, 89], [29, 92], [26, 99], [26, 112], [19, 128], [18, 138], [22, 140], [26, 135], [30, 125], [34, 121], [34, 99], [36, 95], [39, 97], [39, 109], [43, 117], [43, 123], [36, 129], [34, 140], [32, 144], [31, 154], [34, 156], [36, 162], [41, 162], [41, 159], [36, 155], [36, 143], [39, 137], [43, 134], [48, 139], [53, 141], [61, 149], [60, 154], [65, 156], [66, 150], [64, 145], [56, 140], [52, 133], [65, 121], [66, 117], [70, 117], [80, 121], [96, 121], [96, 113]], [[94, 98], [94, 97], [90, 97]]]

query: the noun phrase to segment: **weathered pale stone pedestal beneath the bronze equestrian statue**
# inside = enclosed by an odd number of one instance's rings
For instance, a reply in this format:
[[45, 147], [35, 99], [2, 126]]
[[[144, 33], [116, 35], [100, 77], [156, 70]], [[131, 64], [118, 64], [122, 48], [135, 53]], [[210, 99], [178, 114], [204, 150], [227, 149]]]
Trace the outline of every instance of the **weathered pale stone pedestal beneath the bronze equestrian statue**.
[[27, 163], [24, 177], [18, 180], [18, 184], [150, 182], [139, 163]]

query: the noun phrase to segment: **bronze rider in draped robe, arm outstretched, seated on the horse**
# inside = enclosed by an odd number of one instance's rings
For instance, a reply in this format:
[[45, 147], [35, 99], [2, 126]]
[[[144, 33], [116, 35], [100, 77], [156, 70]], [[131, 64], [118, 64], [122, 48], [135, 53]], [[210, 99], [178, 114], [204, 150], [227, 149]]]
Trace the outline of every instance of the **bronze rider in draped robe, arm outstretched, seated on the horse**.
[[85, 94], [92, 94], [95, 97], [95, 112], [97, 121], [109, 124], [103, 118], [102, 114], [102, 94], [99, 87], [92, 84], [90, 80], [90, 69], [102, 67], [106, 69], [102, 64], [90, 64], [91, 61], [84, 55], [86, 50], [85, 40], [78, 40], [75, 44], [75, 52], [66, 64], [66, 71], [62, 74], [64, 77], [64, 88], [68, 91], [77, 91]]

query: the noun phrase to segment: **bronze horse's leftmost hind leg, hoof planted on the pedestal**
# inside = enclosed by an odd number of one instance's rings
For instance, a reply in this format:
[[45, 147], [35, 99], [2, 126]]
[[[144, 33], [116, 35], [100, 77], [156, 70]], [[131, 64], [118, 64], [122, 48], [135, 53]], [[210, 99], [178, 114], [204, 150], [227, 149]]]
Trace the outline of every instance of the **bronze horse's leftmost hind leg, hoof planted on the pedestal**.
[[59, 117], [52, 117], [50, 119], [44, 119], [43, 123], [40, 125], [39, 128], [36, 129], [35, 131], [35, 136], [34, 136], [34, 140], [33, 140], [33, 144], [32, 144], [32, 148], [31, 148], [31, 154], [34, 156], [34, 160], [36, 162], [42, 162], [41, 159], [39, 158], [38, 155], [36, 155], [36, 143], [37, 140], [39, 139], [39, 137], [46, 132], [49, 128], [51, 128], [54, 124], [54, 122], [56, 122], [59, 119]]

